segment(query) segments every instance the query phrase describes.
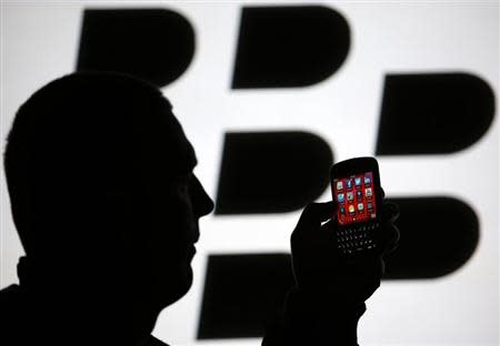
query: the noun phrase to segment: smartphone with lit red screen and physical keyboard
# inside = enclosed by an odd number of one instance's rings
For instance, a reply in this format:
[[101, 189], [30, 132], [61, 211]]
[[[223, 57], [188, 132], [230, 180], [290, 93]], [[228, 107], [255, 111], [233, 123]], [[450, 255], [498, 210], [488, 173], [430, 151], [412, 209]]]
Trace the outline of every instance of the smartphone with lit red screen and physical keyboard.
[[336, 163], [330, 181], [336, 202], [337, 246], [347, 255], [373, 251], [382, 212], [377, 160], [356, 157]]

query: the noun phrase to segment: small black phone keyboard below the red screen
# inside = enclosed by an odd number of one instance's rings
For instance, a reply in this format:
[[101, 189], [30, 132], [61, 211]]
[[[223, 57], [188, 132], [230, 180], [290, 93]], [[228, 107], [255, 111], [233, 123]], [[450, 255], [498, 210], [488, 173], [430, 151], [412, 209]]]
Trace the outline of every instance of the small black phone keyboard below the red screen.
[[377, 247], [373, 231], [379, 223], [370, 223], [351, 227], [341, 227], [337, 231], [337, 246], [344, 254], [352, 254], [363, 250]]

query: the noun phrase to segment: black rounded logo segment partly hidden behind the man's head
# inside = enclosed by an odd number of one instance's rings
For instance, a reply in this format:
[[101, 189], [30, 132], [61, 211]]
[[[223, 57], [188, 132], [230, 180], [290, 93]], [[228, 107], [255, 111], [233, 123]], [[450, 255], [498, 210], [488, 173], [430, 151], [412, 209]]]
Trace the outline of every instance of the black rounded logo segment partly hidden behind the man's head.
[[164, 86], [186, 72], [194, 48], [194, 29], [172, 10], [88, 9], [77, 70], [130, 73]]

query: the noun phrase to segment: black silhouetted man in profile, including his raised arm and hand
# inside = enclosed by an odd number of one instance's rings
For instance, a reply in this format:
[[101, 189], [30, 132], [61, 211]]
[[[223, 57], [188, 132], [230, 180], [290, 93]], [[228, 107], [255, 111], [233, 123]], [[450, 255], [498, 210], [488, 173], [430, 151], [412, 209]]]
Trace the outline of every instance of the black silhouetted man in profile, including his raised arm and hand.
[[[170, 103], [149, 83], [77, 73], [34, 93], [4, 153], [27, 256], [20, 285], [1, 293], [2, 344], [162, 345], [150, 333], [190, 288], [198, 220], [213, 208], [196, 163]], [[332, 223], [321, 226], [332, 207], [311, 204], [299, 221], [297, 285], [267, 344], [356, 344], [381, 262], [338, 256]]]

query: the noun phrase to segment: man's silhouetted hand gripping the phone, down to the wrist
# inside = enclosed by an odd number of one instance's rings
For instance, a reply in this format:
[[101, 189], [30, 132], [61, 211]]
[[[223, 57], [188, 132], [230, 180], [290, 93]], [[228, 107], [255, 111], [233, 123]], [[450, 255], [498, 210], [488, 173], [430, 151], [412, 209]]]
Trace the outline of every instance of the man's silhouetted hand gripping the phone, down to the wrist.
[[[296, 288], [302, 298], [337, 308], [361, 305], [380, 286], [382, 255], [396, 247], [394, 204], [384, 203], [377, 234], [378, 252], [343, 255], [337, 247], [336, 205], [309, 204], [291, 235]], [[314, 303], [312, 303], [314, 304]]]

